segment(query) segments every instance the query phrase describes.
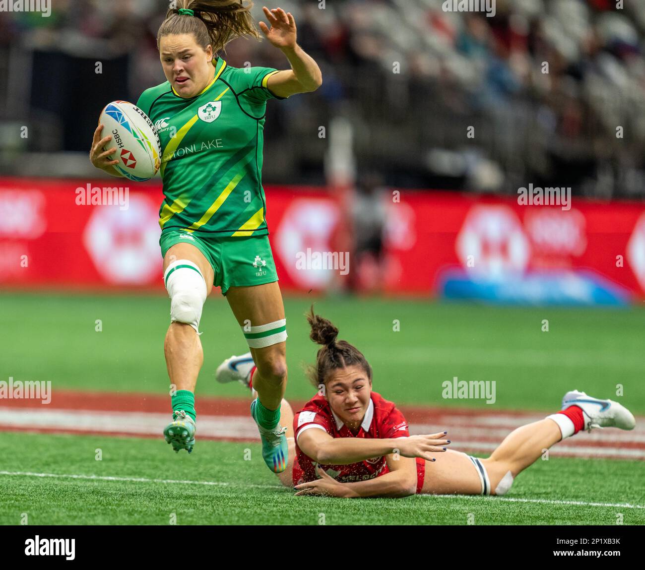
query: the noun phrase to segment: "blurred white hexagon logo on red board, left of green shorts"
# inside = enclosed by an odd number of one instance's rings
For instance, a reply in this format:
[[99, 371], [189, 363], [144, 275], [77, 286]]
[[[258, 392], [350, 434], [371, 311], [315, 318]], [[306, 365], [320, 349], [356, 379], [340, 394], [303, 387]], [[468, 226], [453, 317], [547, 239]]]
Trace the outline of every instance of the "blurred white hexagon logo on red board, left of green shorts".
[[130, 208], [95, 208], [83, 231], [83, 244], [103, 279], [141, 285], [154, 279], [159, 258], [159, 206], [144, 195], [130, 195]]

